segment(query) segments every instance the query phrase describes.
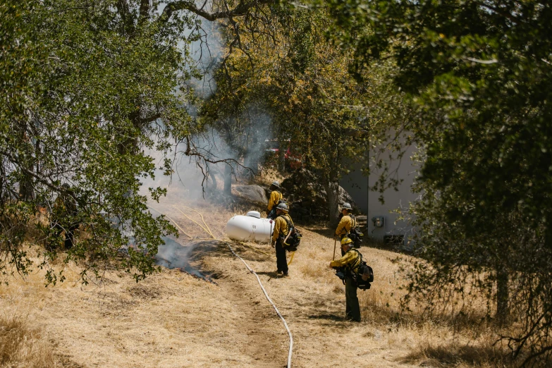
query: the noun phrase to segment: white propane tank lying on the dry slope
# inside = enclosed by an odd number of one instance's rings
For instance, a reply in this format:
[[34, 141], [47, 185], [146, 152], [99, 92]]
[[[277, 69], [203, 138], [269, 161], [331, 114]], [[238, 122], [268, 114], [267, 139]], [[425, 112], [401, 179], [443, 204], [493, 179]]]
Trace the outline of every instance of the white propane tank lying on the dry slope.
[[235, 215], [228, 220], [226, 235], [233, 240], [269, 243], [273, 227], [270, 219], [261, 219], [258, 211], [249, 211], [247, 216]]

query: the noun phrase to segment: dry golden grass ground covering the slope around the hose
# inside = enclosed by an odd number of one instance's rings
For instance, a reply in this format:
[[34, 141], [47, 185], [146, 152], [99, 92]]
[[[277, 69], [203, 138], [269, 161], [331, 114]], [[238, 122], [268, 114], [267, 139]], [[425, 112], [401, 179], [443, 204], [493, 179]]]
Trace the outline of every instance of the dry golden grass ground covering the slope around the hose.
[[[68, 264], [68, 281], [55, 288], [44, 288], [39, 271], [26, 280], [13, 279], [0, 288], [0, 308], [7, 315], [27, 315], [30, 326], [42, 326], [56, 341], [54, 352], [64, 366], [283, 367], [288, 336], [257, 279], [226, 243], [202, 240], [209, 238], [207, 232], [184, 214], [199, 223], [201, 217], [185, 206], [200, 211], [219, 239], [233, 211], [184, 201], [178, 192], [154, 205], [192, 237], [181, 232], [179, 239], [194, 246], [190, 263], [219, 286], [176, 270], [140, 284], [108, 271], [103, 283], [81, 286], [75, 283], [78, 267]], [[240, 214], [259, 209], [245, 203], [234, 208]], [[321, 226], [301, 230], [302, 245], [288, 278], [276, 275], [269, 245], [232, 243], [288, 321], [293, 367], [491, 367], [501, 362], [500, 350], [491, 345], [496, 331], [489, 326], [472, 319], [434, 319], [424, 316], [421, 306], [403, 312], [397, 254], [386, 250], [361, 248], [376, 281], [371, 290], [359, 290], [362, 323], [345, 321], [344, 287], [328, 267], [332, 232]]]

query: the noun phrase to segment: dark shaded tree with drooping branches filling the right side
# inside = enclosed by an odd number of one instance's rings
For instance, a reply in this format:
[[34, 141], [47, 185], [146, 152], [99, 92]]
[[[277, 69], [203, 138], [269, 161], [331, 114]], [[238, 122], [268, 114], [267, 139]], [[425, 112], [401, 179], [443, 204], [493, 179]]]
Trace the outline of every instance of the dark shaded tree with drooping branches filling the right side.
[[496, 300], [489, 313], [521, 326], [505, 334], [515, 355], [548, 360], [550, 4], [353, 0], [331, 11], [357, 78], [392, 59], [395, 85], [417, 106], [408, 129], [424, 149], [424, 198], [412, 214], [430, 264], [417, 262], [409, 296], [436, 307], [482, 291]]

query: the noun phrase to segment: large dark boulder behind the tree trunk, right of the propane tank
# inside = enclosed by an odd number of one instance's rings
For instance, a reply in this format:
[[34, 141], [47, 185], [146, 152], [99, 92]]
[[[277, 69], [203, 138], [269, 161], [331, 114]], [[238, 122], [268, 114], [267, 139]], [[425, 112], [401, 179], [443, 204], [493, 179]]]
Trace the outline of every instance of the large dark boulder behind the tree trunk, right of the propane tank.
[[[290, 203], [290, 216], [303, 221], [309, 219], [326, 220], [328, 217], [328, 198], [326, 188], [320, 179], [305, 168], [300, 168], [283, 180], [281, 184], [284, 197]], [[339, 203], [349, 202], [355, 213], [358, 208], [349, 193], [339, 187]]]

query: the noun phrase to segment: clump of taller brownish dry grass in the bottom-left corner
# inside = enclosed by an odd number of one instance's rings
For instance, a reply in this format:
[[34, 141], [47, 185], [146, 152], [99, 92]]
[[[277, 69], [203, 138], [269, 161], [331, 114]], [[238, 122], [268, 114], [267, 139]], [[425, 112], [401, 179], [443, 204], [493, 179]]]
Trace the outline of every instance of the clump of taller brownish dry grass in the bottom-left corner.
[[0, 317], [0, 367], [56, 367], [52, 345], [22, 317]]

